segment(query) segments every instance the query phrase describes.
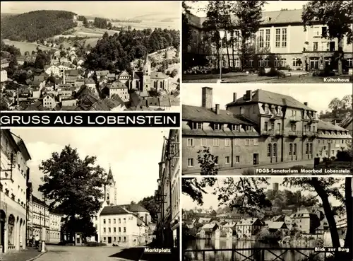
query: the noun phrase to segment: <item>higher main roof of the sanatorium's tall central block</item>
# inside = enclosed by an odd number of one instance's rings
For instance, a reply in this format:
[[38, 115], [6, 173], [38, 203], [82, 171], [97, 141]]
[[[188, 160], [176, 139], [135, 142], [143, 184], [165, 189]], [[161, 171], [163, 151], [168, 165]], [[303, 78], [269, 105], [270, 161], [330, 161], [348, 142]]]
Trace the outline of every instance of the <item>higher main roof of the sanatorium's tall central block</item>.
[[298, 100], [292, 98], [289, 95], [273, 93], [273, 92], [264, 91], [261, 89], [258, 89], [252, 92], [251, 100], [244, 100], [244, 96], [243, 96], [237, 99], [235, 102], [228, 103], [226, 106], [231, 107], [234, 105], [244, 105], [246, 103], [268, 103], [273, 105], [280, 105], [283, 107], [315, 111], [309, 108], [308, 106], [304, 105], [304, 103], [300, 103]]

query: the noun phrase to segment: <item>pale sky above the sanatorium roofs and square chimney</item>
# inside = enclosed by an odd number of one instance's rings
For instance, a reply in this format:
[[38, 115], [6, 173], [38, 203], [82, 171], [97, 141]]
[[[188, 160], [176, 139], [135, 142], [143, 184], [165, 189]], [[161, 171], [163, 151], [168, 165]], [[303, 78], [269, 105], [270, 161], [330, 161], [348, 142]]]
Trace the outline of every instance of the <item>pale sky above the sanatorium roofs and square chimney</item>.
[[307, 102], [309, 108], [321, 112], [328, 110], [328, 104], [333, 98], [342, 99], [345, 95], [352, 95], [352, 84], [268, 84], [268, 83], [184, 83], [182, 103], [184, 105], [201, 106], [201, 88], [213, 87], [213, 107], [220, 104], [220, 108], [225, 110], [225, 105], [233, 101], [233, 93], [237, 93], [237, 98], [241, 98], [247, 90], [255, 91], [263, 89], [273, 93], [281, 93], [292, 96], [299, 102]]

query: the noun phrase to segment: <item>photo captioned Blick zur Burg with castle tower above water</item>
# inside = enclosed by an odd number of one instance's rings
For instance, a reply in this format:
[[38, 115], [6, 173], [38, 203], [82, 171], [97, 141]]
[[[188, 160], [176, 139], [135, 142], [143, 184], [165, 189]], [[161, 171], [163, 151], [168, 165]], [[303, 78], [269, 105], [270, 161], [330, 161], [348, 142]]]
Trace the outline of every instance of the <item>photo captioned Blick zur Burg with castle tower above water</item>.
[[183, 260], [352, 260], [352, 175], [182, 180]]

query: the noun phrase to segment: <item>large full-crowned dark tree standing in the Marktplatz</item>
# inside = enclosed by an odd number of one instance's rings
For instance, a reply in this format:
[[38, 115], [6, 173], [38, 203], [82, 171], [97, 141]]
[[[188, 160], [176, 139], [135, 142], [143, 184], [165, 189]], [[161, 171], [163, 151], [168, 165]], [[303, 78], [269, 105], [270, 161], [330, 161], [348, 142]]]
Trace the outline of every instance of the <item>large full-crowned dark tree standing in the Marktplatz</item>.
[[[77, 149], [70, 145], [52, 157], [42, 161], [39, 169], [44, 173], [39, 191], [51, 202], [50, 209], [56, 209], [68, 217], [68, 224], [77, 224], [95, 216], [104, 196], [102, 187], [107, 185], [107, 173], [95, 166], [96, 157], [80, 159]], [[68, 226], [70, 238], [78, 231]]]

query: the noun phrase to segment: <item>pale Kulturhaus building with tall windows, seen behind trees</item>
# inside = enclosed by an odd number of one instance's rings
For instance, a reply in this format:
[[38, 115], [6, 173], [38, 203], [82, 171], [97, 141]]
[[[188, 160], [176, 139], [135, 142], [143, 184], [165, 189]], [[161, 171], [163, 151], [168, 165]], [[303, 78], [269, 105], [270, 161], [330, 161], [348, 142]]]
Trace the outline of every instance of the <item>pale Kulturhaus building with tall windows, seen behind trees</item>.
[[[301, 9], [264, 11], [261, 27], [247, 42], [248, 45], [253, 46], [253, 50], [255, 50], [253, 54], [256, 56], [247, 59], [243, 67], [275, 66], [294, 70], [310, 70], [323, 69], [330, 64], [333, 54], [339, 50], [338, 40], [321, 37], [328, 31], [326, 25], [315, 24], [305, 30], [304, 23], [301, 21], [302, 12]], [[235, 16], [231, 15], [230, 19], [236, 24], [237, 18]], [[183, 59], [187, 57], [189, 63], [192, 63], [192, 61], [198, 61], [203, 57], [208, 60], [209, 64], [217, 66], [217, 52], [215, 52], [212, 43], [205, 40], [204, 37], [203, 22], [206, 20], [205, 17], [188, 16], [191, 41], [188, 50], [183, 50]], [[222, 50], [222, 66], [239, 67], [241, 63], [239, 59], [241, 48], [239, 28], [227, 31], [225, 37], [224, 41], [229, 42], [232, 38], [234, 42], [229, 45], [228, 50], [227, 47]], [[345, 53], [345, 66], [352, 68], [352, 44], [347, 44], [347, 37], [344, 37], [340, 45]]]

